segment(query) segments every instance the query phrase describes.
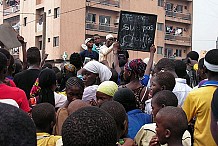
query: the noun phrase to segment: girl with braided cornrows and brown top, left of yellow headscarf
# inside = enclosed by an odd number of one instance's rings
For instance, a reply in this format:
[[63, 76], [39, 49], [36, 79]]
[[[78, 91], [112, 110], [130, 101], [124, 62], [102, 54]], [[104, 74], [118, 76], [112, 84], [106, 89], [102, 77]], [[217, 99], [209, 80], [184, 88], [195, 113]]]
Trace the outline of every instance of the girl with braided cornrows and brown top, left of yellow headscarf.
[[55, 134], [61, 135], [61, 128], [68, 117], [69, 104], [77, 99], [82, 99], [84, 91], [83, 81], [77, 77], [71, 77], [66, 82], [67, 101], [63, 108], [58, 109], [56, 116]]

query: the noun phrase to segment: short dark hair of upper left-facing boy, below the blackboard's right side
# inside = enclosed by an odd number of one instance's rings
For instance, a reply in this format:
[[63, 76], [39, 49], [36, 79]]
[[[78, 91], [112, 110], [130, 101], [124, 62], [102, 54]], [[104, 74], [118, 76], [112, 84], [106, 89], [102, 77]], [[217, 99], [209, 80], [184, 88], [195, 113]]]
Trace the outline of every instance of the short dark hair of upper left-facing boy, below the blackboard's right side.
[[165, 90], [173, 91], [176, 80], [170, 72], [159, 72], [156, 74], [155, 78], [160, 86], [165, 86]]

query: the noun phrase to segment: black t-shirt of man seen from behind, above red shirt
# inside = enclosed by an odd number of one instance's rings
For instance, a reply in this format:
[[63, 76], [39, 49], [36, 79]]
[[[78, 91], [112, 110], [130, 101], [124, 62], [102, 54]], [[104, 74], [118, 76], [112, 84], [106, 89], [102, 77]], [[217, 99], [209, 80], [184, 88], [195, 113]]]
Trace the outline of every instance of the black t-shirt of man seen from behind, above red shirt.
[[39, 69], [28, 69], [16, 74], [14, 77], [16, 86], [24, 90], [28, 99], [30, 99], [30, 90], [38, 78], [39, 72]]

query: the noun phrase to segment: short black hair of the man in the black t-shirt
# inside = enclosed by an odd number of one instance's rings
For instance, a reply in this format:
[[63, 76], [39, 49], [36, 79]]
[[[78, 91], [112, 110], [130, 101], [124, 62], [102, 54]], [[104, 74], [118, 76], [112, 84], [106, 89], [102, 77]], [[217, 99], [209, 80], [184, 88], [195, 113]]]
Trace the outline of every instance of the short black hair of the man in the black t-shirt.
[[27, 62], [32, 64], [39, 65], [41, 62], [40, 51], [37, 47], [31, 47], [27, 50]]

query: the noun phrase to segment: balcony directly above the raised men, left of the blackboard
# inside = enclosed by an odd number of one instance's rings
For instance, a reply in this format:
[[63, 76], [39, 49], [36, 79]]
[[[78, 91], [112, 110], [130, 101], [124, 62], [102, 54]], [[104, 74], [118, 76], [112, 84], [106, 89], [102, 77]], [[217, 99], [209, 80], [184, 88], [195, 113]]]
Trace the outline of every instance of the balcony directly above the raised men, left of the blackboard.
[[99, 32], [107, 32], [107, 33], [118, 33], [118, 27], [115, 26], [108, 26], [103, 24], [97, 24], [93, 22], [86, 22], [86, 30], [91, 31], [99, 31]]

